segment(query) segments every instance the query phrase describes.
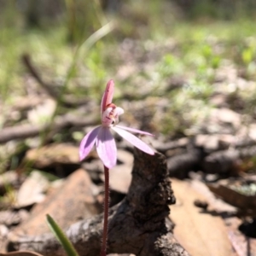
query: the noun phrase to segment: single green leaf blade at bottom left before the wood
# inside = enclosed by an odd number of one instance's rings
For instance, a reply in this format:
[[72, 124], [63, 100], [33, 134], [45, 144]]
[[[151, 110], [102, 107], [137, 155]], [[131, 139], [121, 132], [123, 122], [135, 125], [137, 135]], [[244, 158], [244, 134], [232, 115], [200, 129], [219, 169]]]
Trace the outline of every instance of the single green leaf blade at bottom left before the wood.
[[49, 214], [46, 214], [47, 223], [49, 224], [50, 230], [55, 234], [58, 241], [60, 241], [61, 246], [64, 248], [65, 252], [68, 256], [79, 256], [79, 254], [76, 252], [75, 248], [73, 247], [73, 244], [71, 241], [68, 240], [67, 236], [64, 234], [64, 232], [61, 230], [58, 224], [55, 223], [55, 220], [49, 216]]

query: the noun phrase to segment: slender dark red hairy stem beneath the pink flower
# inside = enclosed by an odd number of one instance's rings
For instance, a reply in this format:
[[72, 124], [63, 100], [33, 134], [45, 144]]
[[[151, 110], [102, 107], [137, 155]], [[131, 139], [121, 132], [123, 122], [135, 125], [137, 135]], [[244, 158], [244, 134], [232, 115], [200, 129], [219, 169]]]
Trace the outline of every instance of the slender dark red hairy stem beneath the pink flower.
[[102, 235], [102, 251], [101, 256], [106, 256], [107, 239], [108, 239], [108, 208], [109, 208], [109, 172], [108, 167], [104, 166], [105, 175], [105, 200], [104, 200], [104, 223]]

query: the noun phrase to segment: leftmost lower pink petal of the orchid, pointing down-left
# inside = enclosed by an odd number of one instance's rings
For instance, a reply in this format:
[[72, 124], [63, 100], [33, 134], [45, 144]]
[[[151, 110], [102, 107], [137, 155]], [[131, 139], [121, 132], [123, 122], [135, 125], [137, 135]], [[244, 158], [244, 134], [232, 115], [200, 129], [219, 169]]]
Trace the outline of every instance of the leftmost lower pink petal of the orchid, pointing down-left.
[[84, 136], [79, 147], [80, 160], [83, 160], [90, 153], [91, 148], [94, 146], [96, 142], [96, 137], [98, 136], [100, 128], [101, 126], [98, 126], [92, 131], [88, 132], [86, 136]]

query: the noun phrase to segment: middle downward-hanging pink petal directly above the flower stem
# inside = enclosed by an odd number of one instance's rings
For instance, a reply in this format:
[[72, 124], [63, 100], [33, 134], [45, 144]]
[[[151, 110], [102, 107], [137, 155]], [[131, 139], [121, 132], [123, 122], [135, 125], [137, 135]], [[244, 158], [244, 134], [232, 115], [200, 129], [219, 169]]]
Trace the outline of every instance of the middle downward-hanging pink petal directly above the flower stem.
[[117, 149], [113, 135], [108, 127], [102, 126], [96, 140], [97, 153], [102, 160], [104, 166], [109, 169], [116, 165]]

